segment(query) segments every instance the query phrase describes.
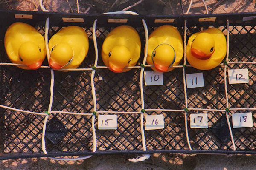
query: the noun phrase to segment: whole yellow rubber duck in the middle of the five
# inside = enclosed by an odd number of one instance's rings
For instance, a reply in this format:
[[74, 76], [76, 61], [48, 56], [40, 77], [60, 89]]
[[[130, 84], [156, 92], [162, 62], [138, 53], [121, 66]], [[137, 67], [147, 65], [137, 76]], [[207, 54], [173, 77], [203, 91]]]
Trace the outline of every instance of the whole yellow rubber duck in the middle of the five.
[[[105, 38], [102, 45], [102, 60], [115, 73], [126, 72], [125, 68], [136, 65], [140, 58], [140, 37], [131, 26], [118, 26]], [[125, 69], [124, 69], [125, 68]]]

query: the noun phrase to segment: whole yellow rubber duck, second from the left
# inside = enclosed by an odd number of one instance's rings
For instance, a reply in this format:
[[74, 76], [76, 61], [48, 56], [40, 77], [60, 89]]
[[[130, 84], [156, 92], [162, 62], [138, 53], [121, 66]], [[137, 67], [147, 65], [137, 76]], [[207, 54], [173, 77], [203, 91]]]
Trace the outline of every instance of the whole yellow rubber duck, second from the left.
[[54, 34], [48, 46], [51, 68], [56, 70], [77, 68], [87, 55], [89, 40], [83, 28], [68, 26]]

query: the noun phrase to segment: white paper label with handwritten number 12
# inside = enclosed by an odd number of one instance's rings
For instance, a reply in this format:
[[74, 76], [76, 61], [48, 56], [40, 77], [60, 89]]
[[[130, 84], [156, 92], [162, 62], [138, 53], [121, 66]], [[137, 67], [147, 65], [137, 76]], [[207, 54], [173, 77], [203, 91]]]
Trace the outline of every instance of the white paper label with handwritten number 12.
[[228, 70], [229, 84], [248, 83], [249, 74], [248, 69], [230, 69]]

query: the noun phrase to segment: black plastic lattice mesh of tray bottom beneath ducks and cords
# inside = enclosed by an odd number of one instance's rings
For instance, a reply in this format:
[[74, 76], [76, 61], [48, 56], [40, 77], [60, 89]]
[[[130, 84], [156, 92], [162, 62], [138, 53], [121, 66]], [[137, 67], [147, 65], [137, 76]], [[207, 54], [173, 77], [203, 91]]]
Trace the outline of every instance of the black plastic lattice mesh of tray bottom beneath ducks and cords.
[[[226, 26], [218, 28], [227, 35]], [[49, 30], [49, 39], [60, 27]], [[96, 37], [99, 47], [99, 66], [104, 66], [100, 57], [100, 48], [105, 36], [113, 28], [97, 28]], [[142, 40], [142, 52], [138, 62], [143, 62], [145, 32], [142, 27], [136, 28]], [[184, 36], [184, 27], [178, 28]], [[195, 32], [206, 27], [189, 27], [187, 39]], [[44, 34], [44, 28], [38, 30]], [[89, 53], [79, 68], [92, 68], [95, 55], [93, 49], [92, 28], [84, 28], [87, 32]], [[149, 34], [154, 28], [149, 27]], [[254, 62], [256, 53], [255, 26], [230, 26], [230, 61]], [[1, 41], [3, 44], [3, 40]], [[1, 62], [8, 62], [6, 54]], [[183, 61], [182, 61], [183, 62]], [[180, 64], [183, 64], [183, 63]], [[187, 63], [188, 64], [188, 63]], [[44, 63], [47, 65], [47, 62]], [[256, 68], [253, 64], [228, 64], [230, 68], [248, 68], [250, 81], [248, 84], [227, 85], [229, 108], [255, 108], [256, 86], [253, 80]], [[163, 114], [165, 128], [145, 131], [145, 144], [148, 150], [189, 150], [186, 137], [192, 150], [233, 150], [229, 127], [225, 112], [227, 101], [225, 96], [225, 65], [210, 71], [199, 71], [192, 67], [185, 69], [185, 74], [203, 72], [205, 87], [186, 89], [183, 85], [183, 68], [164, 73], [162, 86], [144, 86], [145, 114]], [[150, 71], [145, 68], [145, 71]], [[23, 110], [43, 112], [47, 110], [50, 97], [49, 69], [24, 71], [16, 67], [1, 66], [3, 104]], [[91, 93], [91, 71], [55, 71], [54, 102], [52, 111], [68, 111], [76, 113], [92, 113], [93, 97]], [[126, 73], [115, 74], [108, 69], [96, 69], [94, 84], [97, 100], [97, 111], [131, 112], [141, 110], [140, 68]], [[185, 98], [187, 97], [187, 103]], [[156, 109], [183, 110], [194, 108], [188, 112], [208, 113], [208, 129], [191, 129], [186, 133], [186, 113], [184, 111], [157, 111]], [[206, 109], [205, 111], [196, 110]], [[147, 111], [153, 109], [155, 111]], [[211, 111], [209, 109], [218, 109]], [[3, 153], [42, 153], [41, 138], [44, 116], [20, 113], [2, 109], [3, 121]], [[240, 111], [230, 111], [239, 113]], [[252, 111], [255, 113], [255, 111]], [[102, 113], [107, 114], [107, 113]], [[118, 114], [117, 130], [97, 130], [97, 150], [126, 151], [143, 150], [140, 114]], [[253, 120], [255, 117], [253, 116]], [[96, 119], [97, 121], [97, 119]], [[232, 122], [230, 118], [230, 122]], [[144, 121], [145, 123], [145, 121]], [[255, 125], [255, 123], [254, 123]], [[93, 133], [91, 116], [67, 115], [52, 113], [49, 116], [46, 130], [46, 146], [48, 153], [91, 153], [93, 150]], [[95, 125], [97, 127], [97, 123]], [[253, 150], [255, 148], [255, 126], [232, 129], [237, 150]]]

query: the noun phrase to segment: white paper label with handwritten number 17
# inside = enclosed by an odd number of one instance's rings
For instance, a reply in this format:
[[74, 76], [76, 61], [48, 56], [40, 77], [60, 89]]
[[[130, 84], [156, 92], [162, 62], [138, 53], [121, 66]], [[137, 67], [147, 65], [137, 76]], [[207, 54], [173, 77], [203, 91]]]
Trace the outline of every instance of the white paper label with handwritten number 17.
[[190, 114], [190, 128], [208, 128], [208, 114]]

